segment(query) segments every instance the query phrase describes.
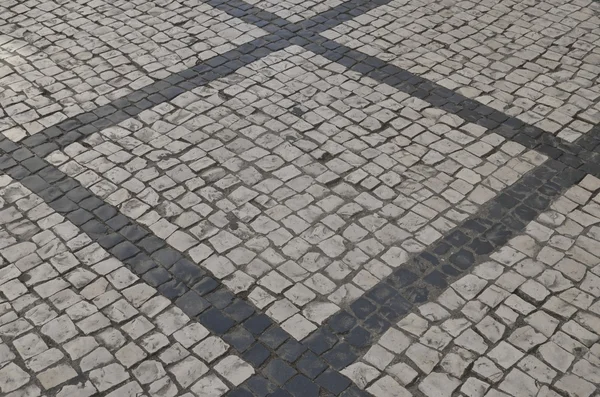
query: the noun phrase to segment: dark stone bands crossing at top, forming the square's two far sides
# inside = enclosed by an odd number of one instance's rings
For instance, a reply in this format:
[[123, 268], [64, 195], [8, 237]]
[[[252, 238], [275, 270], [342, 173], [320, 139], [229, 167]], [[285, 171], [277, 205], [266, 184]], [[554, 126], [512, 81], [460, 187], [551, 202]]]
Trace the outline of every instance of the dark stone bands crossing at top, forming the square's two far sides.
[[515, 117], [318, 34], [388, 2], [389, 0], [350, 0], [296, 24], [243, 0], [209, 0], [207, 4], [246, 23], [258, 26], [270, 34], [134, 91], [94, 111], [64, 120], [25, 138], [21, 143], [44, 157], [55, 149], [65, 147], [100, 129], [136, 116], [143, 110], [171, 100], [183, 92], [225, 77], [290, 44], [296, 44], [411, 96], [423, 99], [434, 107], [456, 114], [469, 122], [480, 124], [490, 131], [519, 142], [529, 149], [544, 153], [568, 166], [600, 176], [599, 126], [595, 126], [582, 137], [581, 143], [569, 143]]

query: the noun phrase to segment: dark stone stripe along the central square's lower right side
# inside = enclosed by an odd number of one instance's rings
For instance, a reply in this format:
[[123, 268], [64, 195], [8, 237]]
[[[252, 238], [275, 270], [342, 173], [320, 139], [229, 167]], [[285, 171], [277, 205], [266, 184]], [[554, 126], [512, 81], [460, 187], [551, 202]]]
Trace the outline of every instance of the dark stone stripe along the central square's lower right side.
[[[474, 265], [522, 233], [525, 226], [546, 211], [552, 200], [578, 183], [586, 174], [548, 160], [521, 177], [481, 210], [450, 231], [406, 264], [367, 291], [346, 309], [330, 317], [307, 338], [321, 344], [324, 338], [340, 342], [331, 352], [362, 356], [392, 324], [415, 305], [437, 298], [453, 281], [468, 274]], [[349, 361], [340, 360], [341, 369]]]

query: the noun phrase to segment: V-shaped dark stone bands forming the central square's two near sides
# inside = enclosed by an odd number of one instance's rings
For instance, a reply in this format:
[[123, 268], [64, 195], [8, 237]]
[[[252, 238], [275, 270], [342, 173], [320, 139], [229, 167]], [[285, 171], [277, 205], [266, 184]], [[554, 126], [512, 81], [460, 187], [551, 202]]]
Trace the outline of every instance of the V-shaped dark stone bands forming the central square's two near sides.
[[0, 141], [0, 153], [0, 171], [19, 180], [186, 314], [222, 336], [262, 373], [231, 396], [284, 396], [299, 390], [305, 396], [324, 390], [363, 395], [339, 373], [342, 368], [355, 362], [413, 305], [433, 299], [452, 280], [485, 261], [545, 211], [553, 198], [585, 176], [558, 161], [547, 161], [297, 342], [209, 272], [28, 149], [5, 139]]

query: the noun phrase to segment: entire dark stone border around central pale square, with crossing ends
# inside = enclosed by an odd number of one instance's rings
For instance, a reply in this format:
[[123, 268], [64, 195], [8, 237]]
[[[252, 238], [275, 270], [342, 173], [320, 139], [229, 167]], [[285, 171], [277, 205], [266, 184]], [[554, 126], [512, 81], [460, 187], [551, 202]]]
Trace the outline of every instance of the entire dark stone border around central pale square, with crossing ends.
[[[262, 375], [255, 375], [238, 389], [232, 390], [231, 395], [243, 393], [243, 390], [257, 396], [289, 395], [288, 392], [294, 394], [301, 387], [314, 390], [316, 396], [320, 392], [319, 386], [335, 395], [368, 395], [347, 381], [337, 369], [354, 362], [377, 336], [385, 332], [391, 323], [407, 314], [415, 304], [432, 299], [474, 263], [484, 260], [492, 250], [520, 232], [529, 220], [549, 205], [552, 198], [581, 180], [585, 173], [600, 176], [600, 126], [594, 126], [577, 142], [569, 143], [515, 117], [319, 34], [389, 1], [350, 0], [299, 23], [291, 23], [242, 0], [205, 1], [231, 16], [264, 29], [268, 34], [92, 112], [67, 119], [18, 144], [7, 139], [0, 141], [0, 151], [4, 153], [0, 156], [1, 171], [21, 181], [73, 223], [78, 226], [87, 225], [84, 229], [90, 231], [95, 237], [94, 241], [110, 248], [132, 271], [156, 286], [161, 294], [169, 297], [190, 317], [204, 324], [212, 333], [229, 340], [240, 355], [245, 354], [249, 361], [256, 362], [259, 367], [257, 369], [262, 368], [263, 374], [270, 373], [266, 368], [273, 368], [273, 362], [282, 362], [286, 366], [292, 364], [290, 368], [295, 365], [303, 374], [293, 375], [286, 380], [287, 383], [282, 384], [287, 391]], [[66, 194], [77, 200], [72, 193], [75, 189], [80, 192], [79, 195], [99, 200], [87, 189], [80, 187], [77, 181], [66, 177], [41, 159], [102, 128], [134, 117], [150, 106], [225, 77], [242, 66], [290, 45], [300, 45], [332, 62], [423, 99], [434, 107], [482, 125], [490, 132], [496, 132], [508, 140], [557, 160], [550, 160], [522, 177], [517, 184], [486, 204], [478, 214], [453, 230], [452, 235], [460, 232], [468, 240], [453, 239], [448, 235], [449, 240], [435, 243], [408, 264], [396, 269], [349, 308], [328, 319], [299, 343], [303, 347], [293, 348], [287, 345], [293, 338], [243, 299], [233, 297], [229, 305], [215, 306], [211, 302], [214, 299], [209, 297], [230, 292], [209, 272], [197, 268], [192, 277], [185, 270], [179, 270], [186, 269], [188, 265], [163, 264], [155, 260], [156, 254], [148, 251], [148, 247], [153, 244], [141, 244], [143, 240], [140, 241], [140, 234], [131, 230], [135, 227], [137, 231], [146, 231], [145, 228], [119, 215], [114, 207], [102, 205], [102, 202], [90, 207], [92, 202], [89, 200], [79, 199], [74, 204], [73, 200], [65, 199]], [[31, 155], [32, 152], [35, 156]], [[524, 198], [521, 196], [523, 191], [529, 191]], [[507, 199], [506, 195], [518, 199], [519, 204]], [[540, 198], [544, 200], [540, 201]], [[528, 205], [531, 203], [538, 204], [532, 208]], [[88, 224], [90, 220], [94, 220], [94, 223]], [[106, 226], [102, 227], [103, 224]], [[154, 237], [156, 240], [153, 243], [162, 242], [161, 245], [166, 246], [164, 241], [150, 232], [144, 236]], [[171, 266], [174, 266], [175, 272], [171, 271]], [[273, 345], [274, 337], [278, 342]], [[266, 352], [269, 352], [267, 358]], [[283, 378], [277, 379], [280, 382]], [[341, 384], [345, 386], [341, 387]]]

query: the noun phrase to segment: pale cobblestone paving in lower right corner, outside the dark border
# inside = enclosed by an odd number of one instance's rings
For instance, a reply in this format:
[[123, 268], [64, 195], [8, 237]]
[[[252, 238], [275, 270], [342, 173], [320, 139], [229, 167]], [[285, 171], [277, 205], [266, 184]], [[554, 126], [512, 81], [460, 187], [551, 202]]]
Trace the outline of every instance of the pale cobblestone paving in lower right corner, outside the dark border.
[[[600, 382], [600, 180], [573, 186], [342, 374], [375, 396], [589, 396]], [[594, 216], [595, 215], [595, 216]]]

